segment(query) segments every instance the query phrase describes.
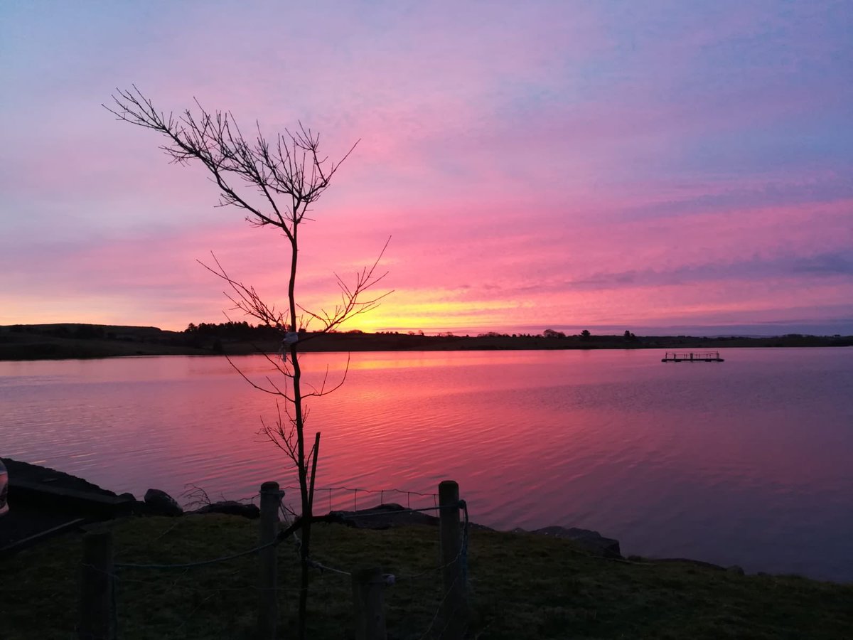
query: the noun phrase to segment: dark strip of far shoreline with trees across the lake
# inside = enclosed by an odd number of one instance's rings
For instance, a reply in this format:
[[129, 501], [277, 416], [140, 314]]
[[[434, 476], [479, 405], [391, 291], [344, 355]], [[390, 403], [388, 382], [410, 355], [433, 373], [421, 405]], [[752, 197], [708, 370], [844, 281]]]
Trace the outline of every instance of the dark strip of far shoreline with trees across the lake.
[[[592, 351], [658, 349], [717, 351], [731, 348], [853, 346], [853, 336], [788, 334], [768, 337], [649, 335], [422, 335], [361, 331], [300, 333], [300, 352]], [[202, 324], [190, 331], [96, 324], [0, 326], [0, 361], [117, 358], [123, 356], [221, 356], [276, 353], [275, 329], [242, 323]]]

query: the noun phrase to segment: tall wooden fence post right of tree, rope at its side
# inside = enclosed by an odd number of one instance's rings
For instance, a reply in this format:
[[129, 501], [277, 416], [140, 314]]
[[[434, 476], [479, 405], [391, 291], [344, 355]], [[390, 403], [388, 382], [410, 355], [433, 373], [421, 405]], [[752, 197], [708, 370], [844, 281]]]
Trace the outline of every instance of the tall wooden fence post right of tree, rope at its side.
[[444, 578], [444, 603], [441, 618], [446, 640], [461, 640], [467, 627], [467, 585], [462, 575], [459, 527], [459, 485], [444, 480], [438, 485], [440, 507], [438, 530], [441, 538], [441, 564]]

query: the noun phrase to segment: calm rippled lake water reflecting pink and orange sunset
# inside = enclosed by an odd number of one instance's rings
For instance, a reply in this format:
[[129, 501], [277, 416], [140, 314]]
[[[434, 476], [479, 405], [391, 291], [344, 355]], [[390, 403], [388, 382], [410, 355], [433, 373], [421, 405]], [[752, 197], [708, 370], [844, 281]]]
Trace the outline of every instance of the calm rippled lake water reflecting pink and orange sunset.
[[[353, 354], [345, 386], [310, 405], [317, 486], [434, 492], [450, 478], [492, 527], [586, 527], [626, 554], [853, 580], [853, 350], [661, 356]], [[330, 379], [345, 362], [304, 357]], [[3, 455], [137, 497], [293, 482], [256, 435], [275, 404], [223, 358], [0, 363], [0, 416]], [[341, 508], [353, 495], [317, 501]]]

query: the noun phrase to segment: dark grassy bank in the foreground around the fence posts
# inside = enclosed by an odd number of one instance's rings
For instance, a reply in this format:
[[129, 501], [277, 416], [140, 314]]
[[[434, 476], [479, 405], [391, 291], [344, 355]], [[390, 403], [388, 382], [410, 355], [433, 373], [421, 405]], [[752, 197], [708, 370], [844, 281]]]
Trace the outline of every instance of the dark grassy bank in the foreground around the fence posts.
[[[133, 518], [111, 525], [118, 562], [206, 560], [257, 544], [257, 523], [224, 515]], [[380, 565], [390, 638], [430, 631], [443, 596], [438, 530], [384, 531], [318, 525], [313, 556], [351, 570]], [[78, 610], [79, 534], [56, 538], [0, 565], [0, 637], [73, 638]], [[293, 637], [297, 556], [278, 553], [280, 635]], [[254, 636], [257, 560], [248, 556], [196, 569], [120, 569], [119, 638]], [[315, 573], [309, 637], [352, 636], [351, 583]], [[853, 630], [853, 585], [794, 576], [743, 576], [688, 562], [620, 562], [587, 555], [566, 540], [473, 530], [471, 637], [524, 638], [844, 638]], [[427, 635], [427, 637], [430, 637]]]

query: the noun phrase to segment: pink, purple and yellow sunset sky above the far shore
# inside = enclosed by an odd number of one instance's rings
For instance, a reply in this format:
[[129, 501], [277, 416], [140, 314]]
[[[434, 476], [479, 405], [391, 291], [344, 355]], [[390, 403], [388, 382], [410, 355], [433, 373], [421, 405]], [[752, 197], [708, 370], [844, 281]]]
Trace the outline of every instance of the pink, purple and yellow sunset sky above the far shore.
[[246, 319], [275, 230], [102, 107], [136, 85], [357, 148], [297, 296], [343, 329], [853, 334], [849, 0], [0, 4], [0, 325]]

